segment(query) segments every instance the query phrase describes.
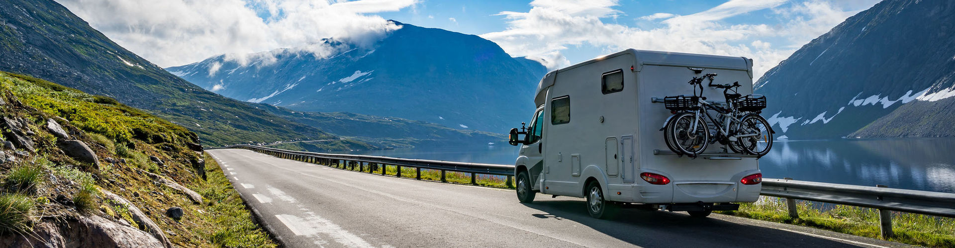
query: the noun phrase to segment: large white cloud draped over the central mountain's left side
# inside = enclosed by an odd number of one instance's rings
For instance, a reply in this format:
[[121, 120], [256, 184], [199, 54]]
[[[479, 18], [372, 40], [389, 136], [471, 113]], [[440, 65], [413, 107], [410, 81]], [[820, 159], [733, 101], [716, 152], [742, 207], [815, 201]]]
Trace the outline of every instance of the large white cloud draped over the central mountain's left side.
[[120, 46], [169, 67], [222, 53], [247, 61], [243, 54], [276, 48], [329, 54], [318, 45], [329, 37], [369, 44], [399, 29], [372, 13], [413, 7], [418, 0], [56, 1]]

